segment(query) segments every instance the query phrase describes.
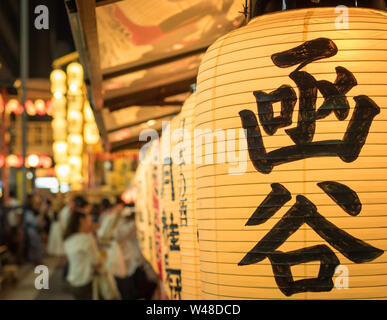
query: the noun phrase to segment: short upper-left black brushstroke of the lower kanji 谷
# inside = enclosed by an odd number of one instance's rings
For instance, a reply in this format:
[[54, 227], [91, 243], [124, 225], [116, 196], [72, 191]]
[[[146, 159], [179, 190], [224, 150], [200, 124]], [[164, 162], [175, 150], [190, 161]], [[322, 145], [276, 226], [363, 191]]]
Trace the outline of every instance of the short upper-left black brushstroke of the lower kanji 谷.
[[292, 198], [290, 192], [280, 183], [273, 183], [271, 188], [272, 191], [254, 211], [246, 226], [256, 226], [266, 222]]

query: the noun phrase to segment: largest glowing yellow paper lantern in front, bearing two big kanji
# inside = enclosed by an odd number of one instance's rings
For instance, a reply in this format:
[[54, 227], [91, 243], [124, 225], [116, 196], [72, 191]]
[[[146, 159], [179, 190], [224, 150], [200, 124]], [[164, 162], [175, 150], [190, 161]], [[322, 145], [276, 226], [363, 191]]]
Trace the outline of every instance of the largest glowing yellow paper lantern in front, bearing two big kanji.
[[204, 56], [195, 129], [246, 130], [196, 166], [204, 298], [387, 298], [387, 20], [348, 14], [257, 17]]

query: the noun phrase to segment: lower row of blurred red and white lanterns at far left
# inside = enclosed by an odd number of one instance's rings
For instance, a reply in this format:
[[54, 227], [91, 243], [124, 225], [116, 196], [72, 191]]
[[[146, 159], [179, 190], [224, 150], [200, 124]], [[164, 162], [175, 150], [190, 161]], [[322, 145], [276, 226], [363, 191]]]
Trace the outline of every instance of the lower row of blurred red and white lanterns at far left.
[[0, 168], [7, 166], [21, 168], [25, 162], [27, 168], [45, 168], [52, 167], [52, 159], [47, 155], [30, 154], [24, 161], [21, 155], [10, 154], [7, 156], [0, 155]]

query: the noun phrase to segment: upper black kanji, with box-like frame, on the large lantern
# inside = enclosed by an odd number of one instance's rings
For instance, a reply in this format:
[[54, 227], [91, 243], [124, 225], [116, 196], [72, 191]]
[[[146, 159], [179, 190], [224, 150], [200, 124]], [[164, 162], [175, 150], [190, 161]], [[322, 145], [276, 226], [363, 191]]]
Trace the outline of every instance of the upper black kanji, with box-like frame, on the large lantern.
[[[254, 112], [242, 110], [239, 113], [242, 126], [247, 131], [250, 159], [259, 172], [270, 173], [274, 166], [311, 157], [338, 156], [344, 162], [352, 162], [359, 156], [372, 121], [380, 112], [375, 102], [365, 95], [353, 98], [356, 106], [341, 140], [313, 141], [316, 120], [323, 119], [332, 112], [339, 121], [348, 117], [350, 108], [346, 94], [357, 85], [357, 81], [344, 67], [336, 68], [337, 78], [334, 83], [325, 80], [317, 81], [308, 72], [299, 70], [308, 63], [329, 58], [335, 54], [337, 54], [337, 47], [334, 42], [319, 38], [272, 55], [274, 64], [280, 68], [300, 64], [290, 73], [290, 78], [299, 90], [299, 115], [297, 127], [285, 130], [294, 145], [267, 152]], [[323, 95], [324, 102], [316, 110], [318, 91]], [[254, 91], [254, 96], [257, 101], [259, 120], [268, 135], [273, 135], [279, 128], [291, 125], [297, 96], [290, 86], [282, 85], [271, 93]], [[281, 113], [278, 117], [273, 115], [275, 102], [281, 102]]]

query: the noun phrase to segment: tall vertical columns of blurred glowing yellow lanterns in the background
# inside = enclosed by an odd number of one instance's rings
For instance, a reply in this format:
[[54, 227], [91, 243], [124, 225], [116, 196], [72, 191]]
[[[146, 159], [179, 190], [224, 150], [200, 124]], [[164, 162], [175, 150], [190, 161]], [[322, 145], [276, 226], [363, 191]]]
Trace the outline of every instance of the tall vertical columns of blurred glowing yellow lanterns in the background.
[[87, 147], [99, 142], [98, 128], [86, 96], [83, 68], [79, 63], [70, 63], [66, 72], [52, 71], [50, 81], [55, 173], [60, 182], [79, 190], [85, 182]]

